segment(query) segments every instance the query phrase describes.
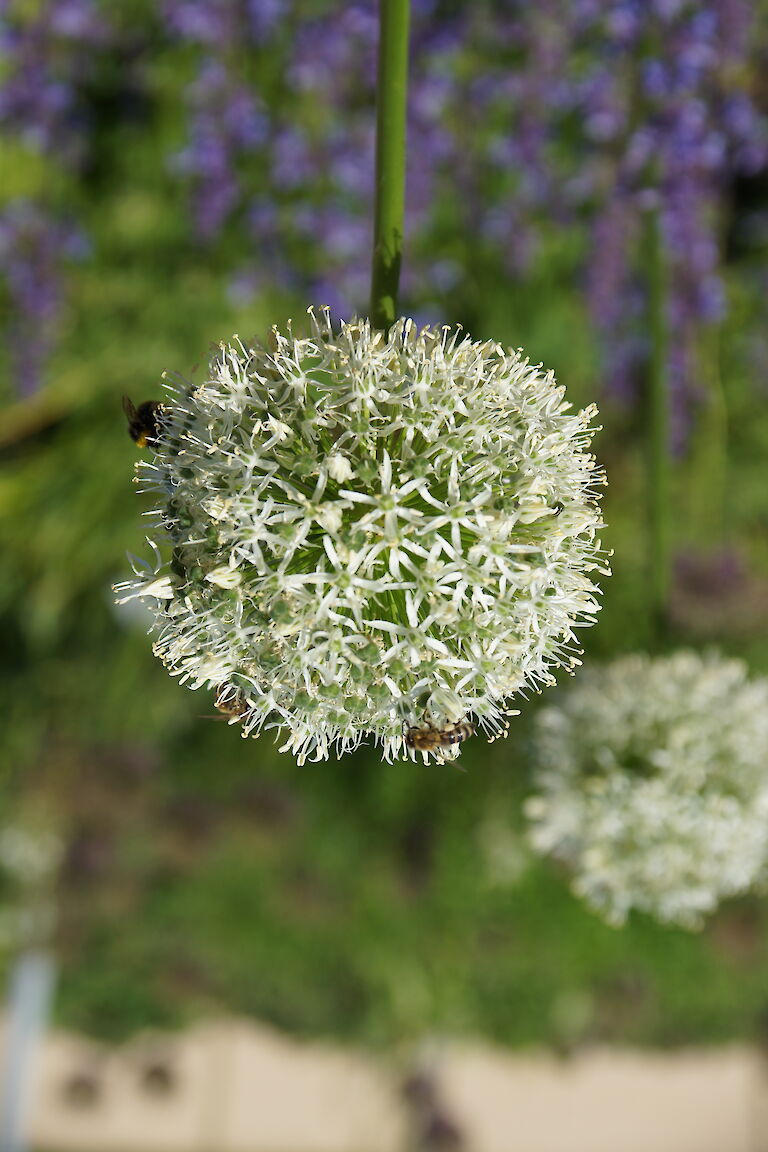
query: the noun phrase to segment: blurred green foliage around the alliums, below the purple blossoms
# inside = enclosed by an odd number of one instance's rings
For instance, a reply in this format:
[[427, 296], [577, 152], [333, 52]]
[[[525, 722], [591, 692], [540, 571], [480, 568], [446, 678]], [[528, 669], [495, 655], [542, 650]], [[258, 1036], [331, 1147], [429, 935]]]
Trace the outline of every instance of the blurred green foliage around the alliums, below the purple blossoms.
[[[160, 159], [176, 90], [158, 76], [152, 131], [105, 132], [98, 190], [81, 204], [93, 255], [73, 272], [50, 384], [23, 403], [10, 385], [3, 397], [2, 799], [13, 819], [25, 795], [45, 794], [69, 846], [60, 1021], [121, 1037], [243, 1011], [372, 1044], [429, 1031], [562, 1047], [756, 1033], [768, 1011], [765, 902], [731, 903], [699, 935], [640, 917], [616, 931], [531, 858], [520, 802], [535, 699], [507, 742], [467, 748], [465, 772], [365, 751], [298, 768], [268, 738], [242, 742], [205, 719], [212, 702], [169, 680], [140, 609], [113, 606], [149, 505], [130, 483], [122, 394], [157, 395], [161, 372], [190, 373], [208, 342], [264, 333], [310, 303], [234, 303], [228, 253], [190, 238]], [[14, 190], [47, 179], [26, 156], [10, 167]], [[573, 278], [578, 243], [553, 228], [524, 282], [474, 268], [446, 319], [481, 301], [473, 335], [523, 346], [581, 404], [595, 399], [598, 351]], [[678, 551], [705, 562], [731, 550], [746, 575], [714, 591], [680, 586], [670, 643], [713, 642], [767, 670], [755, 627], [768, 602], [768, 418], [754, 369], [763, 302], [748, 262], [730, 270], [729, 296], [702, 357], [674, 511]], [[641, 420], [610, 404], [603, 415], [615, 575], [587, 659], [649, 642]]]

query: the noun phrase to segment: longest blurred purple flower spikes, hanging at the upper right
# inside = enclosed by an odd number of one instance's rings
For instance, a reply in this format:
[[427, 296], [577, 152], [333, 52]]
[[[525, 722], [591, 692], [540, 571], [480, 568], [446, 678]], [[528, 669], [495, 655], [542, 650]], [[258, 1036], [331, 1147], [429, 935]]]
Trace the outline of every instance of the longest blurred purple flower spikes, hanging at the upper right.
[[632, 392], [644, 334], [644, 217], [659, 213], [666, 258], [672, 444], [695, 399], [702, 326], [724, 313], [721, 238], [728, 184], [768, 161], [746, 88], [752, 14], [744, 0], [578, 0], [572, 41], [588, 63], [573, 88], [592, 220], [588, 294], [609, 384]]

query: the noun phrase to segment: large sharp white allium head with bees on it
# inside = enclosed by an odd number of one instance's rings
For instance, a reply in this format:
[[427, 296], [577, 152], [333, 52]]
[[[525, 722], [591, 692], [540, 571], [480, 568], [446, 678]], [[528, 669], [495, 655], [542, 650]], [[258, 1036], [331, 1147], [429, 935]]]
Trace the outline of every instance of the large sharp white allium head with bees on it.
[[155, 599], [174, 675], [299, 760], [366, 734], [412, 755], [409, 726], [470, 714], [497, 735], [598, 608], [595, 409], [448, 328], [310, 321], [167, 382], [138, 471], [172, 560], [119, 591]]

